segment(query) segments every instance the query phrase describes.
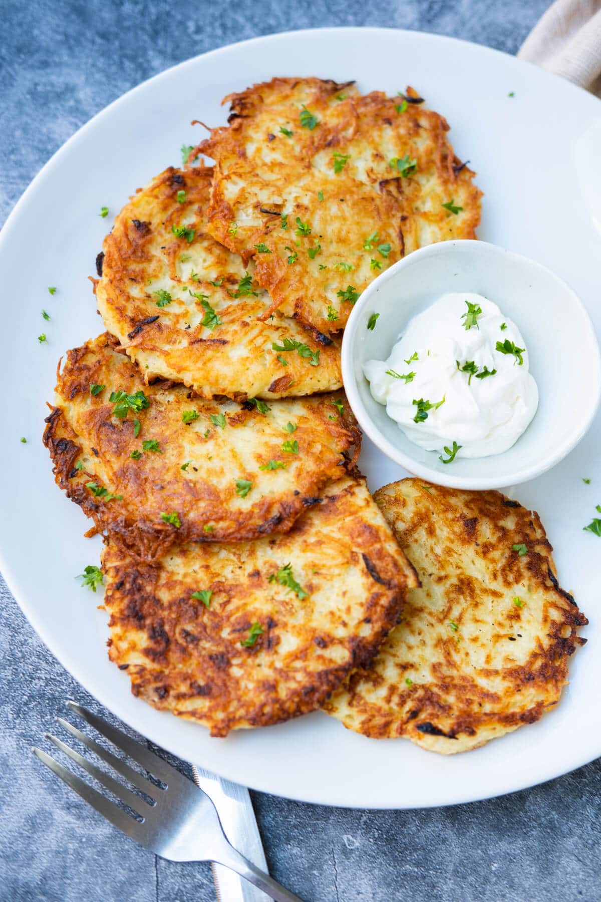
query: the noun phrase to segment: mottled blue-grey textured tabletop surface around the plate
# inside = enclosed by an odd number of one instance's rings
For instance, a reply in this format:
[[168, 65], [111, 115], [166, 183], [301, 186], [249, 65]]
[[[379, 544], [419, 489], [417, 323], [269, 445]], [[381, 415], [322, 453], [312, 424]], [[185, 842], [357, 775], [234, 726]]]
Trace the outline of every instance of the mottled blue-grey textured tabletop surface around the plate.
[[[514, 52], [546, 6], [2, 0], [0, 221], [80, 125], [197, 53], [257, 34], [345, 24], [441, 32]], [[0, 603], [0, 899], [214, 899], [207, 865], [170, 864], [134, 846], [32, 758], [32, 743], [65, 698], [98, 706], [44, 648], [1, 577]], [[514, 796], [431, 811], [345, 811], [259, 793], [253, 802], [272, 873], [311, 902], [593, 902], [601, 898], [600, 791], [596, 761]]]

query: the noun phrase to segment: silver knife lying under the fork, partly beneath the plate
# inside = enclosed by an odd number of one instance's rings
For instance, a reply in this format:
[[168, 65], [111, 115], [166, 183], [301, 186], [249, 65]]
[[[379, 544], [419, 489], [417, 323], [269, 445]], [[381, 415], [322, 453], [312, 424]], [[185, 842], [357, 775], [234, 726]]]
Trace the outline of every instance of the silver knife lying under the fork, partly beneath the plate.
[[[192, 773], [196, 785], [214, 802], [223, 831], [234, 849], [269, 873], [249, 790], [237, 783], [223, 780], [196, 764], [192, 765]], [[270, 902], [270, 896], [253, 887], [233, 870], [222, 864], [213, 863], [211, 867], [217, 902]]]

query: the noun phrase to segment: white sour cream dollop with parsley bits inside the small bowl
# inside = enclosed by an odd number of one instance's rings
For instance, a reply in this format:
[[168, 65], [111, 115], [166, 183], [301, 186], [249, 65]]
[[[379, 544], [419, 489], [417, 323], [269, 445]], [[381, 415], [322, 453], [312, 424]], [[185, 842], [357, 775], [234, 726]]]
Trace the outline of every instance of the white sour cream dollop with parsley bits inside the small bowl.
[[426, 451], [455, 442], [458, 457], [501, 454], [538, 407], [518, 327], [479, 294], [443, 295], [410, 320], [386, 361], [363, 372], [373, 398]]

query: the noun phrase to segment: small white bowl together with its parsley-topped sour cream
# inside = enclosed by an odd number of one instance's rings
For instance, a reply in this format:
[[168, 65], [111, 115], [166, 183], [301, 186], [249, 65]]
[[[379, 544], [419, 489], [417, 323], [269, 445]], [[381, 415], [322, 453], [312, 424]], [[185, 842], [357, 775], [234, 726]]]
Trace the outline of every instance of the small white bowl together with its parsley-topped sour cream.
[[523, 483], [585, 435], [601, 396], [594, 327], [539, 263], [480, 241], [432, 244], [352, 310], [342, 378], [364, 433], [455, 488]]

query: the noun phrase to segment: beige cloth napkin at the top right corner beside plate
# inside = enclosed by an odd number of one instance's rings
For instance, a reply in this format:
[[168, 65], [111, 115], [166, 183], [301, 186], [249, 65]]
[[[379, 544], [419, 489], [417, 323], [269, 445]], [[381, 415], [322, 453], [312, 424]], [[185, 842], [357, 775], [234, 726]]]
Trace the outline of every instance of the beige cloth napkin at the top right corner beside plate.
[[555, 0], [517, 55], [601, 97], [601, 0]]

